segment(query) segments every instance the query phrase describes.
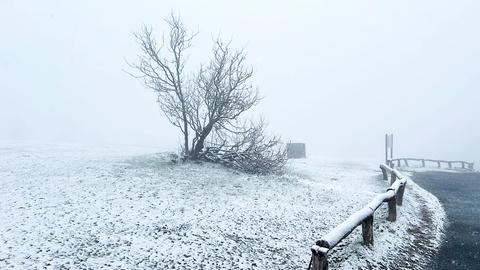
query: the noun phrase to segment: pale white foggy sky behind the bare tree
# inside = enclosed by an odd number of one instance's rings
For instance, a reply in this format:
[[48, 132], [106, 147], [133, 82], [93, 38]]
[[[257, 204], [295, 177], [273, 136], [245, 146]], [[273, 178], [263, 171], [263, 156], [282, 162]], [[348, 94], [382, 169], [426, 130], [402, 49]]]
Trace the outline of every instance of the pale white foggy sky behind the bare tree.
[[[125, 73], [142, 23], [173, 11], [193, 31], [189, 70], [212, 36], [248, 51], [255, 109], [310, 155], [480, 164], [478, 1], [0, 2], [0, 140], [176, 149], [155, 95]], [[477, 165], [478, 166], [478, 165]]]

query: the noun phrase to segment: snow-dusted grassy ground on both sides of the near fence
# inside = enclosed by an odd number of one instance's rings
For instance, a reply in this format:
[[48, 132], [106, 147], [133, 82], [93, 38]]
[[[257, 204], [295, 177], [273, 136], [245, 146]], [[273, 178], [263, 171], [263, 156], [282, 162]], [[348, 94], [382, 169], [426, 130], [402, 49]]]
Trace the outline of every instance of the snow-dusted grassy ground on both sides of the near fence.
[[[145, 149], [3, 144], [0, 269], [304, 269], [315, 240], [387, 185], [378, 164], [308, 159], [284, 176], [252, 176]], [[357, 229], [330, 266], [402, 269], [392, 261], [434, 211], [417, 232], [430, 233], [430, 251], [443, 210], [409, 184], [396, 223], [379, 209], [375, 246]]]

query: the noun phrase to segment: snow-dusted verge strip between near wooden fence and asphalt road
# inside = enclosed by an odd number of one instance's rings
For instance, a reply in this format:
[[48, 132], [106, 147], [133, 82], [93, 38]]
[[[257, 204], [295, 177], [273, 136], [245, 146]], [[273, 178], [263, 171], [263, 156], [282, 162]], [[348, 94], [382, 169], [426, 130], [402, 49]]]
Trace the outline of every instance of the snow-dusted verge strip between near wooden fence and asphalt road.
[[[374, 217], [374, 245], [362, 244], [356, 230], [330, 256], [332, 269], [424, 270], [444, 239], [446, 211], [439, 199], [417, 185], [408, 172], [403, 205], [396, 222], [386, 220], [387, 206]], [[379, 181], [382, 179], [378, 176]], [[356, 243], [356, 244], [352, 244]]]

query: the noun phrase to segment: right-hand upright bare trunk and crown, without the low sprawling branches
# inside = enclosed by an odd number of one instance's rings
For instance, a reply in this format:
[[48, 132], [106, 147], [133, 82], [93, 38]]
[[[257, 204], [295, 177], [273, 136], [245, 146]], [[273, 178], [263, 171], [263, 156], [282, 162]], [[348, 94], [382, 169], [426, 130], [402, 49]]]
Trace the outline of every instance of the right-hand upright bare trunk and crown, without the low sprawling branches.
[[245, 64], [245, 59], [243, 50], [232, 52], [229, 43], [217, 40], [212, 60], [198, 72], [196, 102], [189, 111], [195, 132], [192, 156], [203, 150], [212, 131], [237, 132], [235, 123], [239, 116], [259, 102], [258, 91], [250, 83], [253, 69]]

